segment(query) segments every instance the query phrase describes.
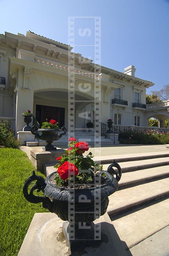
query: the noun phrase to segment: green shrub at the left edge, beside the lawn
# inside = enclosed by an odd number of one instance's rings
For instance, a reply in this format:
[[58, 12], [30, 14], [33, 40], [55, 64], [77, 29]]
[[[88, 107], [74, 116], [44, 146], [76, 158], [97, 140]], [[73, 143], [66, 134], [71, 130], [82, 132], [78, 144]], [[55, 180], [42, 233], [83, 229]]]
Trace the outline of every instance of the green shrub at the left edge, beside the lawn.
[[19, 148], [19, 140], [15, 140], [14, 131], [10, 127], [11, 124], [2, 119], [0, 123], [0, 145], [6, 148]]

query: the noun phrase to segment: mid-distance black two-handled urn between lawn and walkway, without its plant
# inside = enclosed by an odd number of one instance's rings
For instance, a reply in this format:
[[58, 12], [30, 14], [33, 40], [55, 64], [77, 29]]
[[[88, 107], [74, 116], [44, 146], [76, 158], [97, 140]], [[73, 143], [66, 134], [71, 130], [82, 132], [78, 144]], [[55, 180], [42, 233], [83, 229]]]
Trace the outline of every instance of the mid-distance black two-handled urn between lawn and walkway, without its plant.
[[[40, 140], [45, 140], [47, 145], [44, 147], [45, 151], [56, 150], [57, 148], [52, 145], [54, 140], [59, 140], [64, 134], [66, 134], [67, 130], [65, 126], [61, 129], [38, 129], [36, 126], [32, 126], [31, 128], [32, 134], [36, 135]], [[58, 132], [60, 135], [58, 135]]]

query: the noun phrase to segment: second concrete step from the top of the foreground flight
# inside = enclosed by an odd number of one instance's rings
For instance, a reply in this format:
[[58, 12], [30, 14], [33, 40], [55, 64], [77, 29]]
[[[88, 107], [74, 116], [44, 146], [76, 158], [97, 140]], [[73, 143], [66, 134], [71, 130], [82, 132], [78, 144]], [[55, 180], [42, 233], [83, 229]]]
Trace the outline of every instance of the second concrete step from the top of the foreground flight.
[[[120, 167], [122, 169], [122, 172], [127, 172], [127, 171], [136, 171], [140, 169], [151, 168], [155, 166], [162, 166], [167, 164], [169, 164], [169, 157], [158, 157], [154, 159], [122, 162], [120, 163]], [[108, 166], [109, 164], [103, 164], [103, 170], [107, 170]]]

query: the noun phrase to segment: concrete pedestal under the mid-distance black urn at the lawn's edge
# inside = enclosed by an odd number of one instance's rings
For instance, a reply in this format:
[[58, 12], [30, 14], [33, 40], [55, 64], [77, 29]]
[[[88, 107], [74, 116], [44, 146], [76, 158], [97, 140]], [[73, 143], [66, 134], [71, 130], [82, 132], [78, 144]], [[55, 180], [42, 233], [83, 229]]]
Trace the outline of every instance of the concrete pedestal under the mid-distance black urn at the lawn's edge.
[[50, 162], [56, 162], [56, 157], [61, 156], [64, 154], [64, 149], [57, 148], [57, 150], [53, 151], [42, 151], [41, 149], [32, 149], [30, 151], [31, 153], [31, 162], [35, 166], [35, 168], [43, 172], [46, 175], [46, 168], [45, 168], [45, 163], [50, 163]]

